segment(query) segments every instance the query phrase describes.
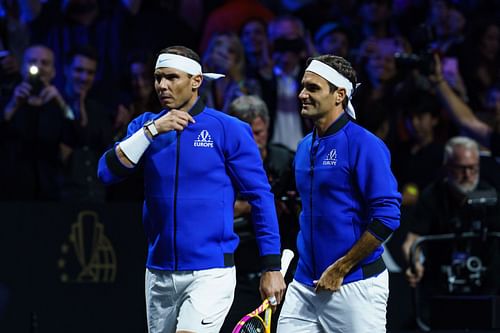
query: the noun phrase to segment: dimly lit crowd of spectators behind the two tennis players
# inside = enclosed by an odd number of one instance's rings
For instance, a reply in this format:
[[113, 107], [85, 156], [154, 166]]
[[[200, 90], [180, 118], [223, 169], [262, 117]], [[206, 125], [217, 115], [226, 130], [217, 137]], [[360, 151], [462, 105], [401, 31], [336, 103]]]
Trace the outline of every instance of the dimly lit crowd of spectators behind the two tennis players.
[[[226, 75], [203, 86], [208, 105], [228, 112], [234, 99], [259, 96], [269, 109], [270, 142], [292, 151], [311, 130], [297, 98], [305, 61], [321, 53], [350, 60], [362, 82], [353, 98], [357, 121], [389, 146], [412, 204], [439, 174], [453, 135], [479, 138], [498, 155], [499, 7], [458, 0], [4, 1], [0, 184], [9, 190], [1, 199], [140, 200], [140, 182], [105, 191], [92, 170], [131, 119], [159, 111], [155, 52], [182, 44], [199, 51], [205, 70]], [[433, 54], [437, 74], [463, 105], [450, 104], [453, 96], [443, 97], [429, 79]]]

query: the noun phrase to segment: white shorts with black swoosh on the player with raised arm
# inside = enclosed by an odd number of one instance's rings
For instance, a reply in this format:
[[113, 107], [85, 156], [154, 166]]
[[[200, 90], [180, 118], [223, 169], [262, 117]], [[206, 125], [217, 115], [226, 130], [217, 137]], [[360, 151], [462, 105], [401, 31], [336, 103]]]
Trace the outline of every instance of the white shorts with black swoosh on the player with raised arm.
[[233, 303], [234, 267], [200, 271], [146, 269], [149, 333], [218, 333]]

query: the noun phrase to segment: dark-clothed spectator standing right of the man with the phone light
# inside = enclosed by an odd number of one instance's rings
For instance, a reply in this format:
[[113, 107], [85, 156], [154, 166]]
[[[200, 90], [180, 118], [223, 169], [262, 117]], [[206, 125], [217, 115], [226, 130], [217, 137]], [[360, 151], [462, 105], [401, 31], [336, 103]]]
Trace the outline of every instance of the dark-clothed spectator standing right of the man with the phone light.
[[97, 52], [80, 46], [68, 56], [65, 96], [74, 116], [74, 141], [61, 144], [64, 164], [62, 199], [104, 202], [106, 190], [97, 180], [100, 155], [112, 143], [111, 113], [89, 93], [97, 72]]

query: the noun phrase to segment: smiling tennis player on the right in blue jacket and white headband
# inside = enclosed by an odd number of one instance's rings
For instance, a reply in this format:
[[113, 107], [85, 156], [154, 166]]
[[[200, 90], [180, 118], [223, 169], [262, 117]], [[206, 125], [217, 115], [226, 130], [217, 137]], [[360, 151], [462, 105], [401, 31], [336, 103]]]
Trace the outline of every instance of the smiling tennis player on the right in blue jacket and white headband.
[[314, 130], [297, 148], [299, 261], [278, 333], [385, 332], [382, 242], [399, 226], [401, 195], [385, 144], [357, 125], [356, 73], [345, 59], [308, 60], [299, 99]]

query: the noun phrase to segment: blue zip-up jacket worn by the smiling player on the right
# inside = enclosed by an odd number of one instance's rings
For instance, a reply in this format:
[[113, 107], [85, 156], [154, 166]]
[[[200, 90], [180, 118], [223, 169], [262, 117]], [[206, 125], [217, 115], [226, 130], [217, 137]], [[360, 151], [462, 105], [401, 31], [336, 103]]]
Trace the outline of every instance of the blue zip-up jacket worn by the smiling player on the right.
[[[313, 286], [365, 231], [384, 241], [399, 226], [401, 195], [390, 155], [376, 136], [341, 115], [324, 136], [307, 135], [295, 155], [302, 199], [295, 279]], [[349, 283], [385, 269], [377, 248], [344, 278]]]

